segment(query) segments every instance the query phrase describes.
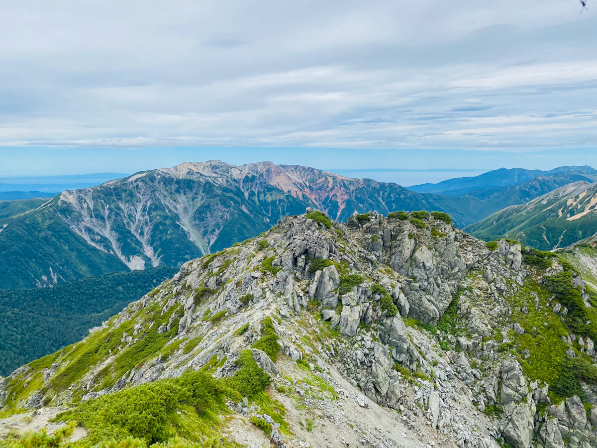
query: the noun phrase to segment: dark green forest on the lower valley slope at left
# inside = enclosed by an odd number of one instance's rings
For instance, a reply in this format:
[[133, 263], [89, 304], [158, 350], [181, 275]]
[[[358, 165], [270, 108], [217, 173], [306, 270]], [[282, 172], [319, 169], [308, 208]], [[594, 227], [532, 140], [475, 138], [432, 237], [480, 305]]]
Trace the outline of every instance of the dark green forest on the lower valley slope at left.
[[60, 286], [0, 290], [0, 376], [78, 342], [140, 299], [178, 268], [159, 267], [82, 278]]

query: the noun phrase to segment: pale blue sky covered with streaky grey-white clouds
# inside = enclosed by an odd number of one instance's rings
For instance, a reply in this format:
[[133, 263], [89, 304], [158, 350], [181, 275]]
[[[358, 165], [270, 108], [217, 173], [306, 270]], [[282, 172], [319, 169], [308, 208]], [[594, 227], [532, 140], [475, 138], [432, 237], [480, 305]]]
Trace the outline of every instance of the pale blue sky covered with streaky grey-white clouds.
[[597, 1], [580, 11], [0, 0], [0, 176], [271, 160], [411, 185], [597, 166]]

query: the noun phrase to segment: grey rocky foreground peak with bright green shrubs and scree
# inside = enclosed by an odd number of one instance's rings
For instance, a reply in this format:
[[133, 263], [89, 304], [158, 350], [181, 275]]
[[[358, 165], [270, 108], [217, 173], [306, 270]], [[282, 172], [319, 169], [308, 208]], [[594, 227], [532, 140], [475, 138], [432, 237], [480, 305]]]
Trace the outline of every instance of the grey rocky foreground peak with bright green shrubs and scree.
[[595, 447], [596, 308], [570, 262], [445, 213], [308, 209], [0, 381], [0, 437]]

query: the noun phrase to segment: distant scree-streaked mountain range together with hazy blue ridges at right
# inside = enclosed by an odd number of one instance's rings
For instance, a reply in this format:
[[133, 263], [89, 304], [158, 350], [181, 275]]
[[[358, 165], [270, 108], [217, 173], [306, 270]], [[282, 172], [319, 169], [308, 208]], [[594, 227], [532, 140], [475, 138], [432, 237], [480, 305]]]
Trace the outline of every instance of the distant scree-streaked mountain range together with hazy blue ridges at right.
[[[506, 180], [498, 180], [500, 176]], [[67, 190], [43, 204], [14, 201], [4, 205], [4, 211], [0, 205], [0, 289], [179, 266], [254, 237], [281, 217], [303, 213], [307, 207], [337, 220], [354, 211], [444, 211], [463, 227], [578, 177], [597, 179], [597, 171], [496, 170], [442, 182], [441, 188], [452, 192], [468, 186], [466, 195], [457, 196], [420, 193], [396, 183], [350, 179], [300, 165], [187, 162]], [[479, 185], [486, 188], [474, 189]]]

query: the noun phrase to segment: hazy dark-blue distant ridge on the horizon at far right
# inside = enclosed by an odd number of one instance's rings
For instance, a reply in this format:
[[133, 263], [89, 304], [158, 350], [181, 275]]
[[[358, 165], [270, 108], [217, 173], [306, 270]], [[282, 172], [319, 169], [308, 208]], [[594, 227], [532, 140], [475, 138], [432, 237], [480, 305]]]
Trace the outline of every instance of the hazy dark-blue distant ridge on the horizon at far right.
[[529, 182], [536, 177], [557, 177], [562, 179], [567, 177], [567, 183], [578, 180], [587, 180], [595, 182], [597, 180], [597, 170], [589, 166], [567, 166], [558, 167], [549, 171], [525, 170], [524, 168], [499, 168], [498, 170], [488, 171], [479, 174], [479, 176], [457, 177], [438, 183], [423, 183], [408, 187], [412, 191], [420, 193], [440, 193], [450, 196], [473, 195], [477, 196], [479, 190], [488, 188], [503, 188], [512, 185]]

